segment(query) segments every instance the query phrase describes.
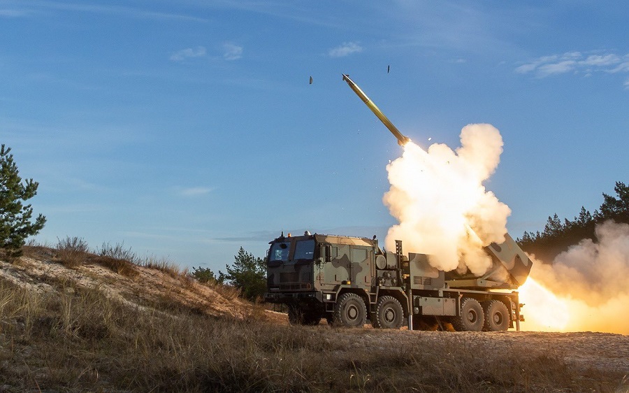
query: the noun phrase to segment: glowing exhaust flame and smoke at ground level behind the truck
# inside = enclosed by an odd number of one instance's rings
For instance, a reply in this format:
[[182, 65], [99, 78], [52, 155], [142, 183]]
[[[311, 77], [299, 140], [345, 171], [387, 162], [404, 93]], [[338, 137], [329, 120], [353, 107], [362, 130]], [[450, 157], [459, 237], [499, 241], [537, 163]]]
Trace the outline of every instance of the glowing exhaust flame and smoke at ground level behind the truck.
[[[527, 299], [524, 329], [605, 331], [629, 334], [629, 225], [607, 221], [595, 229], [596, 239], [584, 239], [558, 255], [552, 264], [533, 261], [530, 277], [556, 294], [542, 303]], [[563, 306], [558, 307], [557, 301]], [[546, 308], [546, 309], [544, 309]], [[564, 316], [558, 315], [559, 312]], [[544, 315], [565, 319], [562, 326]]]

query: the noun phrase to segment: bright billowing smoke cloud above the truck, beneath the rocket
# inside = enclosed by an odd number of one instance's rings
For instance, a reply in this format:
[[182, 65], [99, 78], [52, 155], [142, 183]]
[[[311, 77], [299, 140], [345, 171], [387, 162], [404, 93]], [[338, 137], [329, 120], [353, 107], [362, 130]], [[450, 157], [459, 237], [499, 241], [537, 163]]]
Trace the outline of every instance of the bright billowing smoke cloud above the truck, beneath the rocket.
[[431, 265], [444, 271], [469, 269], [481, 275], [491, 266], [482, 249], [502, 243], [511, 210], [491, 191], [487, 180], [500, 162], [503, 138], [491, 124], [468, 124], [455, 151], [435, 143], [423, 150], [410, 142], [391, 162], [391, 188], [384, 204], [399, 224], [389, 229], [385, 244], [431, 255]]

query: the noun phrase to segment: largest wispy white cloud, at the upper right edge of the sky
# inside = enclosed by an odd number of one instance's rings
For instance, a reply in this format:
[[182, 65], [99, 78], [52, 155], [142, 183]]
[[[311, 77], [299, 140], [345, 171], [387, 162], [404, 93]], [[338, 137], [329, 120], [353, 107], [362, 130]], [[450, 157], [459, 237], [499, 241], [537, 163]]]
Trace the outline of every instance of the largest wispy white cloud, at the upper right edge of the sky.
[[594, 73], [629, 72], [629, 54], [565, 52], [561, 55], [542, 56], [517, 66], [516, 73], [532, 74], [537, 78], [573, 73], [584, 77]]

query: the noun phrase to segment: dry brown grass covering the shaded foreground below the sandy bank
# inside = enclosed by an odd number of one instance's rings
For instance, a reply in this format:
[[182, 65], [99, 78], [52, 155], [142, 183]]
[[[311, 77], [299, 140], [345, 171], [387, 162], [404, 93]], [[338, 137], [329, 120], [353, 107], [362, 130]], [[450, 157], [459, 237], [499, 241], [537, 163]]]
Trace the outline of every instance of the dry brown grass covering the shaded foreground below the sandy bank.
[[255, 312], [213, 318], [172, 300], [153, 306], [0, 280], [3, 391], [614, 392], [622, 378], [573, 370], [543, 348], [496, 353], [422, 334], [400, 345], [396, 334], [415, 332], [290, 327]]

